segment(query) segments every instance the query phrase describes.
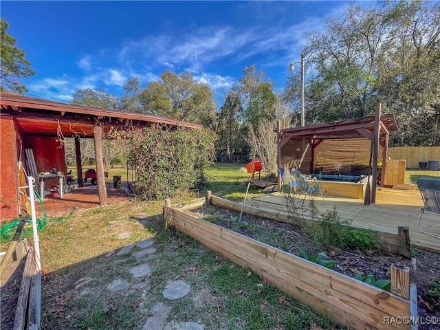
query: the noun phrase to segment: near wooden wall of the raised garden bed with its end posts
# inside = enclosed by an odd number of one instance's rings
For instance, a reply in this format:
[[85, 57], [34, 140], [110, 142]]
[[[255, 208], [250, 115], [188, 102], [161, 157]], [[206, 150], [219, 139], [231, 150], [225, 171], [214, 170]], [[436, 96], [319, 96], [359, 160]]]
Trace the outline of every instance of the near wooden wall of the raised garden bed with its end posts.
[[[211, 197], [208, 192], [207, 199], [211, 201], [219, 197]], [[203, 199], [197, 199], [194, 203], [182, 206], [187, 209], [202, 204]], [[169, 200], [164, 206], [164, 219], [168, 225], [192, 236], [234, 263], [254, 270], [272, 285], [321, 314], [329, 315], [340, 325], [350, 329], [414, 329], [409, 321], [386, 322], [396, 318], [410, 320], [408, 270], [391, 270], [395, 274], [391, 276], [391, 286], [395, 288], [393, 292], [401, 292], [402, 296], [406, 296], [401, 298], [397, 294], [367, 285], [294, 254], [193, 217], [170, 206]], [[415, 292], [415, 286], [411, 285], [411, 293]]]

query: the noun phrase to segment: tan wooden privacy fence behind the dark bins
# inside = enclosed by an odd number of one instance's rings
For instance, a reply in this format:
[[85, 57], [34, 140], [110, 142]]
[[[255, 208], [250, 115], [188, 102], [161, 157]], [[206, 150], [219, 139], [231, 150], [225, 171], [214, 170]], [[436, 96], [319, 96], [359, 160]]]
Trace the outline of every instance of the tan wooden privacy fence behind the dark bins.
[[419, 168], [419, 162], [440, 161], [440, 146], [394, 146], [388, 148], [391, 159], [405, 159], [406, 168]]

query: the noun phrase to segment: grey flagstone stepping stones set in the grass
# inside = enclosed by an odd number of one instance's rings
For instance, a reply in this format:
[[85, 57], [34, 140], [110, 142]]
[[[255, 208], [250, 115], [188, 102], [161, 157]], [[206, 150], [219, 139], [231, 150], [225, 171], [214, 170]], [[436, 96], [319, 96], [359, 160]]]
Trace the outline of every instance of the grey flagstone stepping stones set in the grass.
[[[143, 218], [145, 217], [145, 213], [137, 214], [137, 217]], [[148, 221], [140, 220], [143, 225], [146, 225]], [[124, 256], [126, 254], [131, 253], [136, 259], [139, 259], [143, 263], [137, 265], [135, 267], [131, 267], [129, 272], [131, 276], [137, 283], [133, 285], [129, 281], [124, 280], [123, 278], [115, 278], [113, 282], [108, 286], [108, 289], [111, 292], [119, 292], [125, 290], [126, 292], [134, 292], [135, 290], [142, 290], [143, 292], [149, 292], [151, 290], [150, 285], [148, 284], [148, 278], [151, 277], [151, 268], [146, 261], [150, 258], [155, 257], [156, 249], [153, 247], [154, 241], [153, 239], [144, 239], [143, 241], [139, 241], [135, 244], [130, 244], [124, 246], [121, 250], [118, 251], [116, 256]], [[131, 252], [134, 248], [138, 248], [140, 250]], [[108, 256], [111, 256], [109, 254]], [[142, 282], [139, 282], [139, 281]], [[168, 283], [162, 292], [162, 295], [167, 300], [177, 300], [183, 298], [190, 292], [190, 285], [185, 283], [184, 281], [173, 281]], [[175, 320], [171, 320], [170, 322], [166, 322], [168, 319], [168, 315], [170, 314], [171, 307], [165, 305], [164, 303], [157, 303], [148, 311], [148, 318], [144, 324], [142, 330], [203, 330], [203, 325], [199, 325], [197, 322], [177, 322]]]

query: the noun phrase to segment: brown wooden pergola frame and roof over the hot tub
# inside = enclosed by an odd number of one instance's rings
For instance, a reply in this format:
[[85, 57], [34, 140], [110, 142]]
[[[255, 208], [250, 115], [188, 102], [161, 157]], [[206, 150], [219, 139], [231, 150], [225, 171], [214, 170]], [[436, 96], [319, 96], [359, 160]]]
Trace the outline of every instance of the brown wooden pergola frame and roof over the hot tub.
[[[364, 118], [355, 118], [344, 120], [338, 123], [316, 124], [311, 126], [293, 127], [290, 129], [281, 129], [278, 122], [277, 125], [277, 164], [278, 168], [282, 168], [281, 162], [282, 149], [287, 142], [291, 140], [303, 140], [307, 144], [303, 148], [302, 159], [305, 153], [310, 152], [310, 170], [313, 170], [315, 162], [315, 150], [325, 140], [347, 140], [347, 139], [368, 139], [371, 141], [373, 155], [373, 171], [372, 171], [372, 193], [371, 202], [375, 203], [375, 188], [377, 182], [377, 161], [379, 159], [378, 149], [382, 146], [382, 173], [385, 172], [386, 157], [389, 135], [393, 131], [397, 131], [397, 123], [393, 115], [382, 115], [381, 105], [377, 104], [375, 115]], [[378, 143], [377, 143], [378, 142]], [[278, 173], [278, 185], [281, 185], [281, 178]]]

